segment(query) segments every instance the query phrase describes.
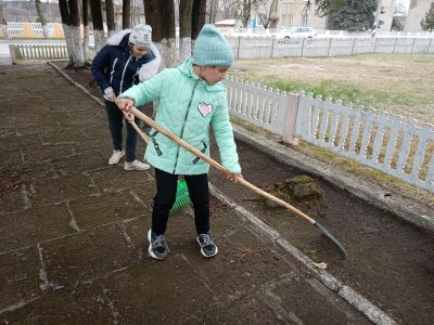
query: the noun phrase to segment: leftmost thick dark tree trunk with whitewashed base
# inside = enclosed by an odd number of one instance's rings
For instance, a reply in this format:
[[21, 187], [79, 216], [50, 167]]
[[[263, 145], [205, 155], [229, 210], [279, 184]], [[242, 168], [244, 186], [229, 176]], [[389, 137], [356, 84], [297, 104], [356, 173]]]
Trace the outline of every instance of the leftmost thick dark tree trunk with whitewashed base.
[[85, 66], [85, 56], [80, 41], [80, 15], [78, 0], [59, 0], [63, 32], [69, 55], [67, 68]]

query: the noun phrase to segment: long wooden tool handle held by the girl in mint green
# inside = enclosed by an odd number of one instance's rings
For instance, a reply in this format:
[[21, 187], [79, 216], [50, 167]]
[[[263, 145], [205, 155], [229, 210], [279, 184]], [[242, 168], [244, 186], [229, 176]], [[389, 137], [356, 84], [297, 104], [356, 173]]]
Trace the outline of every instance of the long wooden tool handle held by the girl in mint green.
[[[187, 143], [186, 141], [183, 141], [182, 139], [176, 136], [174, 133], [171, 133], [169, 130], [163, 128], [162, 126], [159, 126], [157, 122], [155, 122], [152, 118], [148, 117], [146, 115], [144, 115], [143, 113], [141, 113], [139, 109], [137, 109], [136, 107], [132, 107], [130, 109], [130, 112], [137, 116], [139, 119], [141, 119], [143, 122], [145, 122], [146, 125], [149, 125], [150, 127], [154, 128], [155, 130], [157, 130], [159, 133], [164, 134], [165, 136], [169, 138], [171, 141], [178, 143], [179, 145], [181, 145], [182, 147], [184, 147], [186, 150], [188, 150], [189, 152], [191, 152], [192, 154], [194, 154], [195, 156], [200, 157], [201, 159], [203, 159], [204, 161], [208, 162], [210, 166], [213, 166], [215, 169], [221, 171], [225, 174], [231, 174], [231, 172], [229, 170], [227, 170], [224, 166], [221, 166], [220, 164], [218, 164], [216, 160], [212, 159], [210, 157], [208, 157], [207, 155], [201, 153], [200, 151], [197, 151], [195, 147], [191, 146], [189, 143]], [[255, 192], [258, 195], [261, 195], [266, 198], [268, 198], [269, 200], [272, 200], [275, 203], [277, 203], [278, 205], [289, 209], [290, 211], [296, 213], [298, 217], [302, 217], [303, 219], [306, 219], [308, 222], [310, 222], [311, 224], [315, 224], [316, 221], [314, 219], [311, 219], [309, 216], [303, 213], [301, 210], [294, 208], [292, 205], [290, 205], [289, 203], [285, 203], [284, 200], [260, 190], [259, 187], [256, 187], [255, 185], [253, 185], [252, 183], [247, 182], [246, 180], [242, 179], [242, 178], [238, 178], [238, 183], [240, 183], [241, 185], [243, 185], [244, 187]]]

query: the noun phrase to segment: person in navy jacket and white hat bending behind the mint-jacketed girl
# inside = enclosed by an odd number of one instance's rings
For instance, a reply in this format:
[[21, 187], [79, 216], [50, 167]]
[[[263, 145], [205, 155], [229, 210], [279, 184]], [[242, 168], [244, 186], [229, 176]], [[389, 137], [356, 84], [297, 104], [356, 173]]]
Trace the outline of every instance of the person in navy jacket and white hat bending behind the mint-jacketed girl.
[[131, 86], [150, 79], [158, 72], [161, 56], [152, 43], [152, 28], [139, 24], [108, 38], [107, 43], [93, 58], [91, 70], [104, 94], [108, 128], [113, 141], [113, 154], [108, 165], [116, 165], [126, 152], [125, 170], [146, 170], [148, 164], [136, 159], [138, 134], [132, 126], [125, 122], [127, 140], [124, 151], [124, 114], [117, 108], [117, 96]]

